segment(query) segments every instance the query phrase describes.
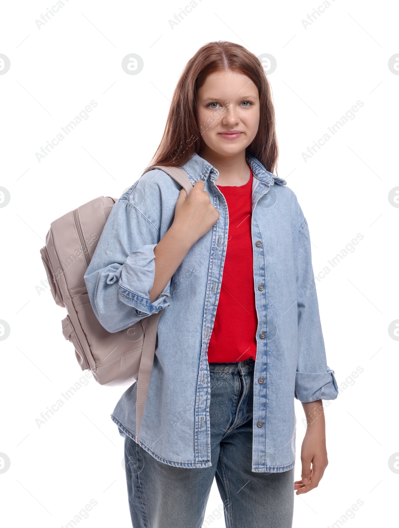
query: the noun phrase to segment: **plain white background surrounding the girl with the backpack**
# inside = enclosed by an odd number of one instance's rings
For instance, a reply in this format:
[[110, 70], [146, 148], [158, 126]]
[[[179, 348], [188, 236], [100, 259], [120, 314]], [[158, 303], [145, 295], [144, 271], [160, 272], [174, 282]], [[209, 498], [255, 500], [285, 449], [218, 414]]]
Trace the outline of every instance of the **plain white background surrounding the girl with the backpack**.
[[[39, 250], [52, 220], [96, 196], [119, 197], [137, 180], [159, 144], [180, 72], [214, 40], [277, 60], [269, 80], [278, 175], [309, 223], [315, 274], [364, 235], [317, 282], [329, 366], [342, 386], [356, 367], [364, 372], [325, 411], [329, 466], [319, 488], [295, 496], [294, 526], [331, 526], [357, 499], [364, 505], [351, 527], [393, 525], [399, 474], [388, 458], [399, 451], [398, 342], [388, 325], [399, 318], [399, 209], [388, 193], [399, 186], [399, 76], [387, 64], [399, 52], [397, 3], [331, 0], [306, 29], [301, 21], [318, 3], [197, 0], [174, 29], [168, 20], [185, 3], [64, 3], [40, 30], [35, 20], [51, 2], [8, 2], [1, 11], [0, 53], [11, 61], [0, 76], [0, 185], [11, 194], [0, 209], [0, 319], [11, 327], [0, 343], [0, 452], [11, 460], [0, 473], [4, 525], [64, 526], [93, 498], [84, 526], [131, 525], [123, 439], [110, 419], [125, 388], [91, 378], [47, 423], [35, 423], [83, 374], [61, 333], [65, 310], [50, 288], [36, 288], [46, 279]], [[138, 75], [121, 68], [129, 53], [144, 61]], [[91, 100], [98, 105], [89, 118], [39, 163], [35, 153]], [[364, 106], [355, 119], [305, 163], [306, 148], [358, 100]], [[295, 404], [299, 478], [305, 428]], [[219, 504], [214, 485], [205, 519]]]

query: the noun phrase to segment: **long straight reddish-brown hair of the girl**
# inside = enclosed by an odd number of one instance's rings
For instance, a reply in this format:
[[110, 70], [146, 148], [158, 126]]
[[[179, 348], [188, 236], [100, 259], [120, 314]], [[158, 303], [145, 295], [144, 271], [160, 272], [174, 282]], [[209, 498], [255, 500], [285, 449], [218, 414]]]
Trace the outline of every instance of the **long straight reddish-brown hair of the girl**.
[[258, 88], [259, 128], [246, 153], [258, 159], [267, 171], [276, 170], [278, 143], [275, 112], [265, 70], [256, 55], [240, 44], [225, 41], [205, 44], [187, 62], [177, 82], [164, 135], [151, 165], [182, 166], [199, 152], [201, 131], [195, 115], [196, 92], [210, 73], [223, 70], [245, 74]]

